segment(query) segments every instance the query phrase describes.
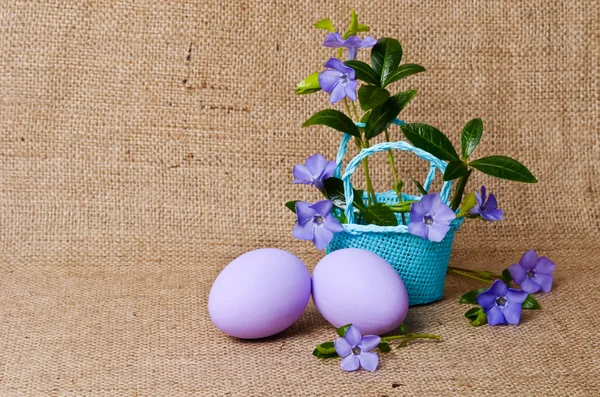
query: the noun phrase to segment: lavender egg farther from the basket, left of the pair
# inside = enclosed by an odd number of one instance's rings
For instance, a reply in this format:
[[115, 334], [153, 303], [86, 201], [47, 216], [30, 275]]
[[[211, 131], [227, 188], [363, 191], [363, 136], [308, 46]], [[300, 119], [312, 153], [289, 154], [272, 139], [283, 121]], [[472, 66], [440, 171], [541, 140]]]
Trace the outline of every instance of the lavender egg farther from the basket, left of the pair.
[[300, 317], [310, 288], [308, 270], [294, 255], [274, 248], [250, 251], [221, 271], [208, 296], [208, 312], [228, 335], [264, 338]]

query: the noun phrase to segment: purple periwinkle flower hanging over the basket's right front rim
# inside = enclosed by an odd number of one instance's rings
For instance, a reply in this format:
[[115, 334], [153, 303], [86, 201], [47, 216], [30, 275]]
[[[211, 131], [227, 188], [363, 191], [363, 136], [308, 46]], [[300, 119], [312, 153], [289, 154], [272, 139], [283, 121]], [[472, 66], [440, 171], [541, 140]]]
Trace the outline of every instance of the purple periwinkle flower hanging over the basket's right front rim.
[[456, 218], [437, 193], [426, 194], [421, 201], [410, 207], [408, 232], [426, 240], [440, 242], [450, 230], [450, 222]]

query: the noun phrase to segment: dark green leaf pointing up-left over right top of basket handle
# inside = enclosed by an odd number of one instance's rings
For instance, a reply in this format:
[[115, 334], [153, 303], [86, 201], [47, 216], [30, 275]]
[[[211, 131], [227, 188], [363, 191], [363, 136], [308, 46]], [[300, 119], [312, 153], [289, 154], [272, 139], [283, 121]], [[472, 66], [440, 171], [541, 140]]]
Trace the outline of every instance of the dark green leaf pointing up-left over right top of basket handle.
[[409, 123], [400, 126], [400, 129], [406, 139], [419, 149], [442, 160], [459, 160], [450, 140], [437, 128], [427, 124]]

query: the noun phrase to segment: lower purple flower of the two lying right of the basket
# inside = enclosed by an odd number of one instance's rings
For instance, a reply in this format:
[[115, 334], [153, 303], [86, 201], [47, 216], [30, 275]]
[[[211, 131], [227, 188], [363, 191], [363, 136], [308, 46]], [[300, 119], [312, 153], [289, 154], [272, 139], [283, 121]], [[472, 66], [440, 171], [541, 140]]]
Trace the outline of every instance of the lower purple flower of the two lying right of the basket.
[[487, 291], [477, 295], [477, 303], [483, 308], [489, 325], [519, 324], [525, 299], [527, 292], [508, 288], [502, 280], [494, 281]]

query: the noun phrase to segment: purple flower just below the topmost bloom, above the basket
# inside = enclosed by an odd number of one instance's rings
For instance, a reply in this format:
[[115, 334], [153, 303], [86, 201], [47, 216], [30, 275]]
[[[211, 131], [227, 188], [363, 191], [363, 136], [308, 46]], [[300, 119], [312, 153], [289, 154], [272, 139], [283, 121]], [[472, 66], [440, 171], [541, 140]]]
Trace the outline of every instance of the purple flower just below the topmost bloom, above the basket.
[[319, 85], [323, 91], [331, 93], [329, 102], [335, 103], [346, 96], [356, 101], [358, 81], [354, 69], [337, 58], [330, 58], [325, 67], [330, 69], [319, 73]]

